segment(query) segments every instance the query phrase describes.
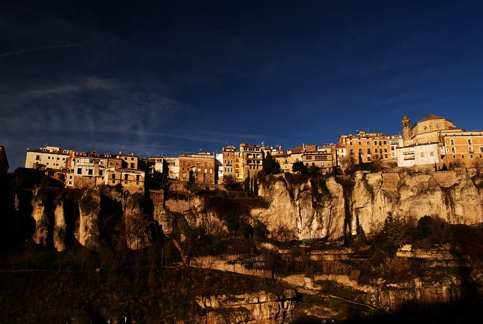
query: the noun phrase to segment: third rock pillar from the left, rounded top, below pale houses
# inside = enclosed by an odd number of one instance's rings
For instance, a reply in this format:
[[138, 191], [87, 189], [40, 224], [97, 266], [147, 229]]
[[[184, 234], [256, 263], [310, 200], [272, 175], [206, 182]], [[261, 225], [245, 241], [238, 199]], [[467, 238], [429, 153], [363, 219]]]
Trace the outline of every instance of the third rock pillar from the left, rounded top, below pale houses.
[[90, 249], [100, 247], [99, 212], [101, 195], [98, 190], [87, 189], [79, 199], [80, 226], [78, 241]]

